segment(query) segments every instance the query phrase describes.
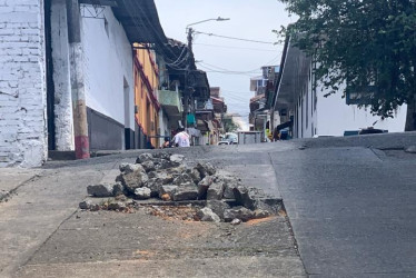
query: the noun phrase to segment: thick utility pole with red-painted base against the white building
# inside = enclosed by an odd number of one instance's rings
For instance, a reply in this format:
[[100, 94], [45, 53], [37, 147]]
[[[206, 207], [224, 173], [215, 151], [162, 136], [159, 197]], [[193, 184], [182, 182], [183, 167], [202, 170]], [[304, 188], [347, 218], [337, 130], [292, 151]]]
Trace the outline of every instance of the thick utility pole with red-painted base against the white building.
[[80, 10], [78, 0], [66, 1], [76, 157], [85, 159], [90, 157], [90, 148], [83, 83]]

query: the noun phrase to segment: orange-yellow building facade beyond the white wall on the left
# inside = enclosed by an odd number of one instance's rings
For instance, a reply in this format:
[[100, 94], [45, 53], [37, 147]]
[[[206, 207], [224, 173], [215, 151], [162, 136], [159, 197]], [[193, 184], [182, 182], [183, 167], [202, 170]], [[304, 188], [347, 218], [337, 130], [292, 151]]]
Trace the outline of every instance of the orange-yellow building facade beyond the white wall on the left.
[[159, 73], [156, 57], [149, 49], [138, 48], [135, 51], [136, 146], [139, 149], [157, 148], [160, 105], [157, 99]]

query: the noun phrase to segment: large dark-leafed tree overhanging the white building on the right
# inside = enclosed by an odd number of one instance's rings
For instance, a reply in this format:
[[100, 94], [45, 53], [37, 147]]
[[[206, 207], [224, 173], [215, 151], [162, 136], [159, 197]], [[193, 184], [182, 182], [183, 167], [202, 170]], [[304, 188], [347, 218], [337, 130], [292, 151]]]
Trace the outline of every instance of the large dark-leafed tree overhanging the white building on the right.
[[280, 32], [313, 57], [324, 88], [346, 83], [382, 118], [407, 103], [405, 130], [416, 130], [415, 0], [280, 1], [299, 17]]

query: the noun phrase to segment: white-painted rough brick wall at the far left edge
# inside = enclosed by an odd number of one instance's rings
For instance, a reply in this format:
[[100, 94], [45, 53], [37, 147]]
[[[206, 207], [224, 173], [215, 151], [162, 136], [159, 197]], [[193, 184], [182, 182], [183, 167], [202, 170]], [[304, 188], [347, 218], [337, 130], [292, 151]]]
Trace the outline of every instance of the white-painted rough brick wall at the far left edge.
[[0, 0], [0, 167], [47, 158], [43, 0]]

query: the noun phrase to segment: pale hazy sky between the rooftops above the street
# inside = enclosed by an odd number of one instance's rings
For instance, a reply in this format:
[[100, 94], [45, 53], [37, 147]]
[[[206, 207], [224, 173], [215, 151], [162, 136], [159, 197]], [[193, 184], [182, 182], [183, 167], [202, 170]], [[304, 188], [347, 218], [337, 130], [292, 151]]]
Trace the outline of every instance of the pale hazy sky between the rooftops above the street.
[[155, 3], [169, 38], [187, 42], [188, 24], [221, 17], [230, 20], [207, 21], [192, 28], [199, 32], [267, 42], [207, 34], [194, 37], [198, 69], [208, 73], [210, 87], [221, 88], [228, 112], [239, 113], [241, 118], [235, 120], [242, 130], [248, 130], [249, 100], [255, 95], [249, 90], [250, 78], [261, 75], [261, 66], [280, 63], [283, 46], [274, 44], [278, 38], [271, 30], [293, 22], [285, 6], [277, 0], [155, 0]]

